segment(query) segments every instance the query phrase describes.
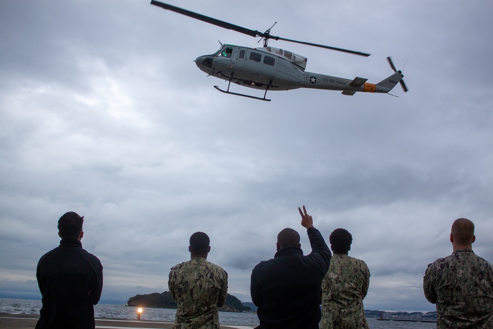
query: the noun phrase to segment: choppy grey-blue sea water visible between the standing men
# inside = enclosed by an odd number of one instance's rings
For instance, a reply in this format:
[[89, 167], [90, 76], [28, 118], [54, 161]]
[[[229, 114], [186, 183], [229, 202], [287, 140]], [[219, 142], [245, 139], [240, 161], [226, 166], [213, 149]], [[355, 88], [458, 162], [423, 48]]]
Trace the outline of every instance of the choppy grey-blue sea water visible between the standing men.
[[[40, 300], [28, 299], [7, 299], [0, 298], [0, 313], [10, 314], [39, 314], [41, 309]], [[176, 310], [166, 308], [149, 308], [143, 307], [141, 320], [154, 320], [173, 322], [175, 321]], [[137, 319], [137, 307], [98, 304], [94, 306], [94, 315], [96, 318], [116, 318], [116, 319]], [[426, 322], [396, 322], [396, 321], [379, 321], [368, 318], [368, 324], [371, 329], [434, 329], [435, 323]], [[236, 313], [236, 312], [219, 312], [219, 322], [221, 325], [237, 326], [258, 326], [258, 318], [253, 313]]]

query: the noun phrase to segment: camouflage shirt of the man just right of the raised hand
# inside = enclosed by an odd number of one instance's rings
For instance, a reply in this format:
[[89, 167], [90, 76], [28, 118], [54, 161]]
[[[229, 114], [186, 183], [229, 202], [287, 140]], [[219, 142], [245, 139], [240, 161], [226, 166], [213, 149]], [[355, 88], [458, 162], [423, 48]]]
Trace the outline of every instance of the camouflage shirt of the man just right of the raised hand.
[[334, 254], [322, 281], [320, 329], [370, 329], [363, 298], [370, 286], [370, 270], [364, 261]]

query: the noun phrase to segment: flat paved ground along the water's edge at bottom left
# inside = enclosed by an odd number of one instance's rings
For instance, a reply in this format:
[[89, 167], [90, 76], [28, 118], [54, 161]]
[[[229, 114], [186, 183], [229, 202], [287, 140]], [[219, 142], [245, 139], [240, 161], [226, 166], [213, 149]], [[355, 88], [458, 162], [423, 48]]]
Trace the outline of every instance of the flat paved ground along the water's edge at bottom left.
[[[0, 313], [0, 328], [2, 329], [34, 329], [39, 319], [37, 314]], [[96, 329], [172, 329], [173, 322], [153, 320], [129, 320], [115, 318], [95, 318]], [[254, 329], [251, 326], [220, 325], [221, 329]]]

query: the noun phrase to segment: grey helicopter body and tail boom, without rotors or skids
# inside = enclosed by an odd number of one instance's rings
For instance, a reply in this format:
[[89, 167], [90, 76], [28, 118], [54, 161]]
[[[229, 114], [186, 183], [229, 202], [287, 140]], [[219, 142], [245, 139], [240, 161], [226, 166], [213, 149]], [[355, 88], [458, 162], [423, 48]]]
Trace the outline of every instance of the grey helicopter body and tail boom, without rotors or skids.
[[214, 54], [199, 56], [195, 60], [197, 67], [209, 75], [261, 90], [312, 88], [340, 90], [345, 95], [358, 91], [387, 93], [402, 79], [400, 72], [394, 73], [389, 77], [394, 83], [385, 87], [366, 83], [367, 79], [359, 77], [351, 80], [305, 72], [306, 63], [306, 57], [279, 48], [229, 44], [223, 45]]

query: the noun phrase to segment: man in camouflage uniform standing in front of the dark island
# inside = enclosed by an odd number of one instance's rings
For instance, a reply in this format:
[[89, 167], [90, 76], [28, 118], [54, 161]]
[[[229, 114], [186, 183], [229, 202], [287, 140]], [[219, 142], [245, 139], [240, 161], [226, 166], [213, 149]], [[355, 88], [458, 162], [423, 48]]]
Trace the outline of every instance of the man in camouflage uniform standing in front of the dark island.
[[190, 237], [190, 260], [175, 265], [168, 286], [176, 301], [173, 329], [219, 329], [219, 307], [226, 302], [228, 274], [207, 260], [209, 236], [196, 232]]

